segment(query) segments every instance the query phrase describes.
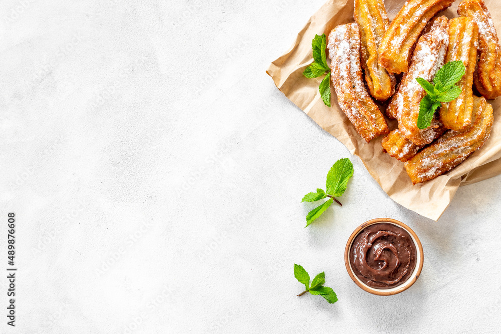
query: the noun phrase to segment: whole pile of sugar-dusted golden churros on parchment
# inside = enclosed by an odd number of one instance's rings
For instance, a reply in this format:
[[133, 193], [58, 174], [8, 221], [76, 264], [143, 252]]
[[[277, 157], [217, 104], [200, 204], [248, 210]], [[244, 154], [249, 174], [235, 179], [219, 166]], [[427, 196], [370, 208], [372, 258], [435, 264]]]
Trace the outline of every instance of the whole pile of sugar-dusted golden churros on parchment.
[[[367, 142], [385, 135], [383, 149], [405, 163], [413, 184], [451, 170], [482, 147], [493, 122], [486, 99], [501, 95], [501, 47], [485, 4], [464, 0], [458, 18], [437, 15], [453, 2], [408, 0], [390, 24], [383, 0], [355, 0], [355, 23], [328, 36], [340, 108]], [[431, 81], [452, 61], [465, 67], [457, 83], [461, 93], [441, 103], [430, 126], [419, 129], [426, 92], [416, 78]], [[398, 121], [398, 129], [390, 132], [375, 100], [387, 101], [386, 116]]]

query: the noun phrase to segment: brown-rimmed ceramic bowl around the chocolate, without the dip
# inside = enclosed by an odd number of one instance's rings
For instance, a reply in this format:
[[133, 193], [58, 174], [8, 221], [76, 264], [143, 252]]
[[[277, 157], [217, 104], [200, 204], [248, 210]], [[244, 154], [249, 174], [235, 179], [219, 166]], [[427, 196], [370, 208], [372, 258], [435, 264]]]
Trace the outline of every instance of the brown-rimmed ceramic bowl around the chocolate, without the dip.
[[[390, 223], [390, 224], [397, 225], [397, 226], [403, 228], [404, 230], [406, 230], [407, 233], [410, 234], [412, 241], [414, 242], [414, 245], [416, 246], [416, 250], [417, 250], [416, 267], [414, 268], [414, 272], [412, 273], [412, 275], [409, 276], [409, 278], [404, 283], [402, 283], [398, 286], [389, 288], [389, 289], [377, 289], [377, 288], [373, 288], [373, 287], [368, 286], [367, 284], [362, 282], [357, 277], [357, 275], [353, 272], [353, 269], [352, 269], [351, 263], [350, 263], [349, 253], [350, 253], [350, 248], [351, 248], [351, 245], [352, 245], [355, 237], [367, 226], [374, 225], [377, 223]], [[376, 218], [376, 219], [371, 219], [369, 221], [366, 221], [365, 223], [363, 223], [362, 225], [357, 227], [355, 229], [355, 231], [350, 235], [350, 237], [348, 238], [348, 242], [346, 243], [346, 248], [345, 248], [345, 265], [346, 265], [346, 270], [348, 270], [348, 274], [350, 275], [351, 279], [353, 279], [353, 281], [358, 286], [360, 286], [363, 290], [365, 290], [369, 293], [380, 295], [380, 296], [389, 296], [389, 295], [397, 294], [397, 293], [400, 293], [404, 290], [407, 290], [412, 284], [414, 284], [414, 282], [417, 280], [417, 278], [421, 274], [421, 269], [423, 269], [423, 260], [424, 260], [423, 246], [421, 245], [421, 241], [419, 241], [419, 238], [417, 237], [416, 233], [414, 233], [414, 231], [412, 229], [410, 229], [409, 226], [405, 225], [404, 223], [402, 223], [398, 220], [391, 219], [391, 218]]]

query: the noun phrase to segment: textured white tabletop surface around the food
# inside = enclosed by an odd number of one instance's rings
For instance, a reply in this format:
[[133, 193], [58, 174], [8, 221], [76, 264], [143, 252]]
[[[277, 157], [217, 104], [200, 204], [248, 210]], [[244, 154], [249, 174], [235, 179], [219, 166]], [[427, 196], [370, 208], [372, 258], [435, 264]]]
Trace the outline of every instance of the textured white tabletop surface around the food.
[[[0, 280], [0, 332], [499, 330], [501, 177], [461, 187], [434, 222], [351, 157], [344, 206], [303, 228], [302, 196], [350, 154], [265, 70], [322, 3], [0, 4], [0, 270], [9, 211], [19, 268], [15, 328]], [[343, 263], [355, 227], [382, 216], [425, 253], [390, 297]], [[296, 297], [294, 263], [325, 270], [339, 302]]]

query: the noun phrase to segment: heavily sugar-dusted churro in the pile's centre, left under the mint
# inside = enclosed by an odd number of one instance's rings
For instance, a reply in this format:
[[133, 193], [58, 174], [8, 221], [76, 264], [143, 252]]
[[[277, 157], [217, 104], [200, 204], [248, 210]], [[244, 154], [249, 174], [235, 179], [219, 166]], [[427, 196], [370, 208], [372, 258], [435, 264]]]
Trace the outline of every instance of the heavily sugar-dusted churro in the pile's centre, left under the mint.
[[433, 79], [444, 64], [448, 40], [448, 20], [445, 17], [437, 18], [429, 33], [419, 38], [412, 54], [409, 72], [403, 75], [398, 92], [386, 109], [387, 115], [393, 115], [398, 120], [400, 132], [418, 146], [431, 143], [437, 137], [441, 124], [433, 120], [431, 126], [426, 129], [417, 127], [419, 104], [426, 92], [416, 78], [427, 81]]

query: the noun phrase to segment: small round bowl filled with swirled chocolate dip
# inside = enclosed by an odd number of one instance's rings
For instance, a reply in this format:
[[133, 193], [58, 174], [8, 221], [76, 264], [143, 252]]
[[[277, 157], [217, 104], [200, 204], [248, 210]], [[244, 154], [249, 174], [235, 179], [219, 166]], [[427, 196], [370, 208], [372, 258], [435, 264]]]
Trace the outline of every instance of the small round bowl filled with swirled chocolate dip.
[[423, 247], [416, 233], [391, 218], [369, 220], [355, 229], [345, 248], [353, 281], [367, 292], [392, 295], [408, 289], [423, 268]]

